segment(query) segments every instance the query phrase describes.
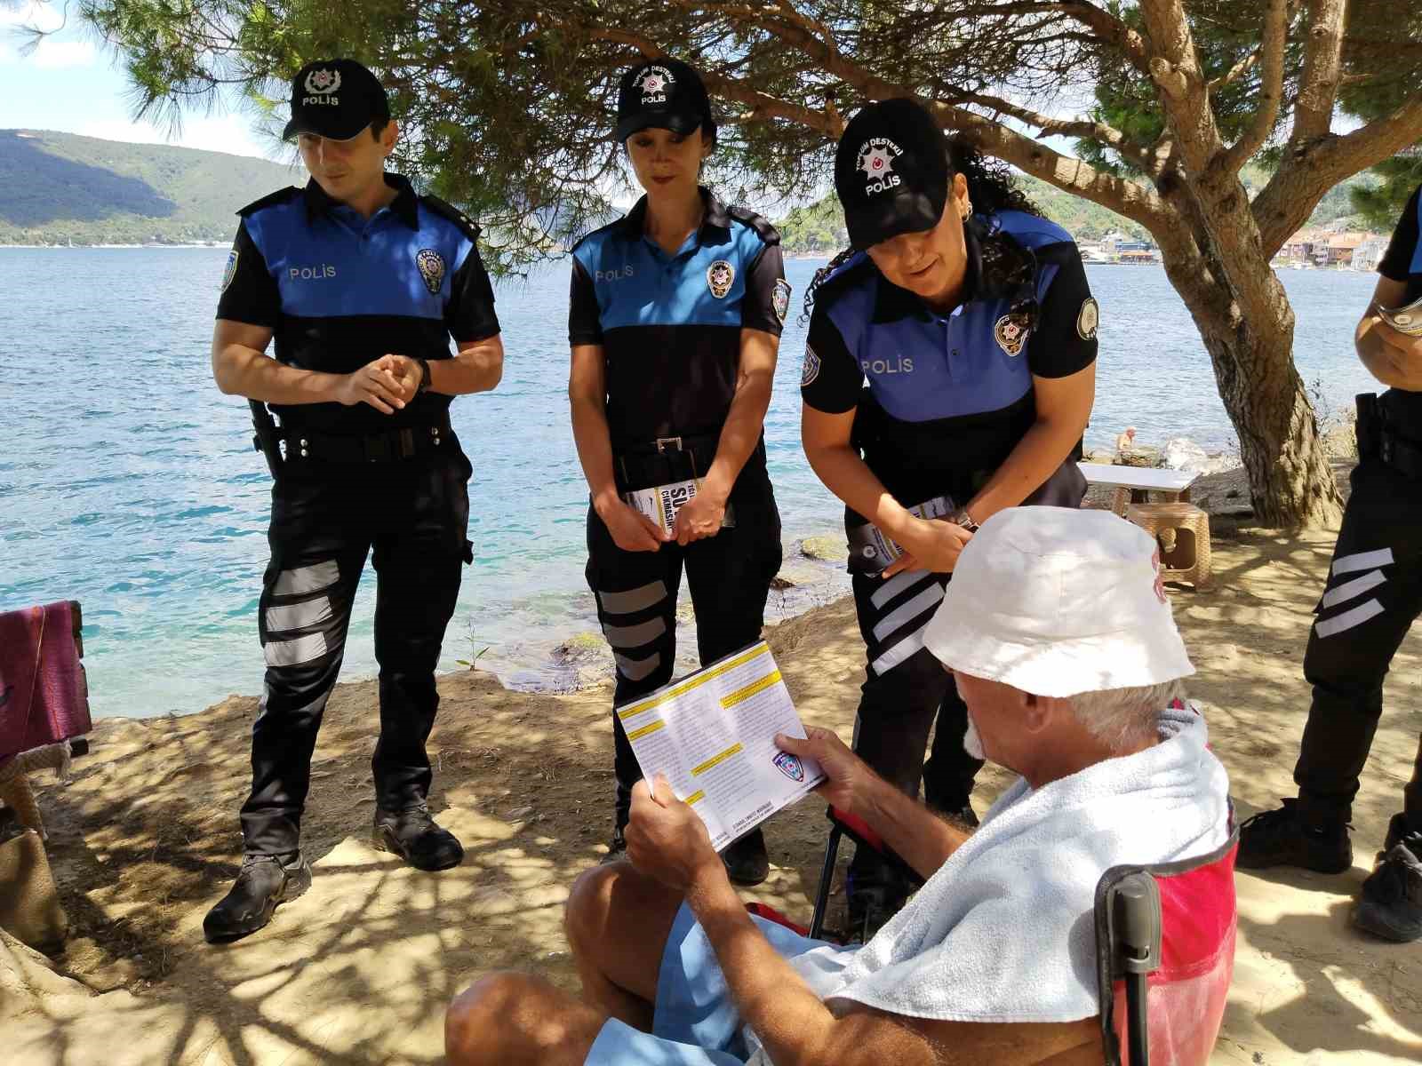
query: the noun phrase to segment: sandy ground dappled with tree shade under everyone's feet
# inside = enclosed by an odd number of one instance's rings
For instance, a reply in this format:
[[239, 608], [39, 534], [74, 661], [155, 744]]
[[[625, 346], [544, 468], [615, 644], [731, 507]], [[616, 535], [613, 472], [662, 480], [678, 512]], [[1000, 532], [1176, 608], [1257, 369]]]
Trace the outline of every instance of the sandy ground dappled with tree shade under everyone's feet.
[[[1227, 490], [1216, 489], [1217, 506], [1229, 506]], [[1172, 600], [1199, 667], [1192, 694], [1243, 817], [1293, 790], [1308, 705], [1300, 662], [1332, 536], [1227, 522], [1217, 532], [1213, 590], [1175, 588]], [[848, 736], [863, 669], [852, 604], [786, 621], [769, 640], [805, 721]], [[1413, 634], [1394, 664], [1355, 809], [1354, 868], [1240, 873], [1239, 955], [1216, 1062], [1422, 1059], [1422, 945], [1372, 941], [1348, 924], [1422, 732], [1419, 664]], [[421, 874], [370, 847], [375, 688], [343, 685], [304, 826], [316, 884], [226, 948], [203, 944], [201, 922], [237, 868], [256, 699], [100, 722], [68, 785], [37, 782], [74, 932], [53, 969], [0, 942], [4, 1060], [437, 1063], [444, 1006], [479, 974], [518, 967], [576, 988], [560, 912], [609, 830], [610, 689], [515, 694], [481, 672], [447, 675], [439, 689], [432, 803], [464, 840], [465, 864]], [[1007, 776], [990, 768], [980, 780], [983, 810]], [[766, 836], [772, 876], [747, 897], [808, 915], [822, 804], [784, 812]]]

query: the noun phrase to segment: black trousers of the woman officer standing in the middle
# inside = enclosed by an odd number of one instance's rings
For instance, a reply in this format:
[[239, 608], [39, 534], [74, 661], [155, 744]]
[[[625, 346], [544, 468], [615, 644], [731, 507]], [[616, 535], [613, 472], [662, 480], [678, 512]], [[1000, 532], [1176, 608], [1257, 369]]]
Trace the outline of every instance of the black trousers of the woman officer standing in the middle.
[[[735, 526], [685, 547], [623, 551], [592, 507], [587, 510], [587, 586], [597, 598], [597, 621], [613, 648], [621, 705], [671, 681], [677, 658], [677, 593], [683, 567], [697, 614], [701, 664], [761, 640], [771, 578], [781, 569], [781, 515], [765, 489], [764, 502], [734, 505]], [[627, 824], [631, 786], [641, 768], [627, 733], [613, 715], [614, 816]]]

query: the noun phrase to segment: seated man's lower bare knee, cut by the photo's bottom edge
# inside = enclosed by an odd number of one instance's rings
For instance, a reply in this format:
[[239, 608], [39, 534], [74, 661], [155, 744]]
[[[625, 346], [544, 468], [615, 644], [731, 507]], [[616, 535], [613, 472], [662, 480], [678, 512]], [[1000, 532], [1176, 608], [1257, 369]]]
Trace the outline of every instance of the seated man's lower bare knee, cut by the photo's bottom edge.
[[607, 1016], [542, 978], [489, 974], [445, 1015], [448, 1066], [582, 1066]]

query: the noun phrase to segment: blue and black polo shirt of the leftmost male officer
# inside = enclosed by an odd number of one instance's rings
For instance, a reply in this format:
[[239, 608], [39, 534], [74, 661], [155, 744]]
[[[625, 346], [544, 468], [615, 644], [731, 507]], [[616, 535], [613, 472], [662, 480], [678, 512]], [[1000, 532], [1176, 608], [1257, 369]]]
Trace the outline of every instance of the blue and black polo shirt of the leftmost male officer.
[[[395, 199], [365, 219], [314, 181], [240, 212], [218, 317], [273, 331], [289, 367], [350, 374], [381, 355], [451, 357], [499, 333], [479, 229], [458, 209], [387, 173]], [[284, 428], [363, 435], [428, 425], [454, 397], [421, 392], [385, 415], [368, 404], [272, 405]]]

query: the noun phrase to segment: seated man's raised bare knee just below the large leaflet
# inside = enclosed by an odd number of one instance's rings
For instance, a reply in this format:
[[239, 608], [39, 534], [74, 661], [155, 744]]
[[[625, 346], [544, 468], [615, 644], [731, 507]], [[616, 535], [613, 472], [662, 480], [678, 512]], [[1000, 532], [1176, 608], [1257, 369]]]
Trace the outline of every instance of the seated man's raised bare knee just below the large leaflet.
[[661, 955], [681, 897], [631, 863], [600, 866], [573, 884], [563, 914], [583, 1001], [651, 1032]]

